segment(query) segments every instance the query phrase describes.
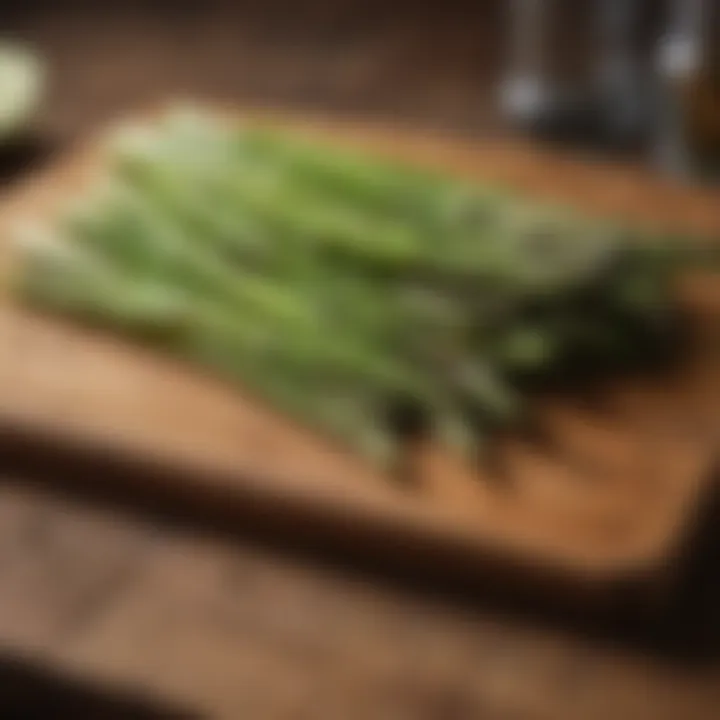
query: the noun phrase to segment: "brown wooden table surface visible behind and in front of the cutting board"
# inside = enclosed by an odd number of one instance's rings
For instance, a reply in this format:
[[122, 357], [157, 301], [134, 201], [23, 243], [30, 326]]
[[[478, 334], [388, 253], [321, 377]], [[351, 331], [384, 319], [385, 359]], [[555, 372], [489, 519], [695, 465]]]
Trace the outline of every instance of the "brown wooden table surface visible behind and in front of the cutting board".
[[[299, 19], [282, 0], [213, 0], [182, 3], [171, 21], [160, 0], [109, 9], [15, 0], [0, 20], [51, 59], [41, 125], [62, 143], [178, 90], [476, 132], [497, 126], [489, 81], [500, 54], [497, 7], [476, 5], [311, 0]], [[6, 461], [0, 452], [3, 718], [8, 704], [26, 720], [720, 712], [712, 660], [670, 663], [619, 639], [502, 618], [247, 540], [52, 495]], [[111, 697], [115, 715], [104, 704]]]

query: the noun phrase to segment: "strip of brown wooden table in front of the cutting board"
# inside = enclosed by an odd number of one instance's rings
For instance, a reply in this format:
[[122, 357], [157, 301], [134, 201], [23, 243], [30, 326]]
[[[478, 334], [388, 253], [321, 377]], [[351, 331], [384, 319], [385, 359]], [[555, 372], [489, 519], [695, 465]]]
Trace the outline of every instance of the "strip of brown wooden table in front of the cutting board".
[[0, 484], [0, 573], [5, 658], [199, 718], [711, 720], [720, 703], [713, 663], [501, 620], [18, 478]]

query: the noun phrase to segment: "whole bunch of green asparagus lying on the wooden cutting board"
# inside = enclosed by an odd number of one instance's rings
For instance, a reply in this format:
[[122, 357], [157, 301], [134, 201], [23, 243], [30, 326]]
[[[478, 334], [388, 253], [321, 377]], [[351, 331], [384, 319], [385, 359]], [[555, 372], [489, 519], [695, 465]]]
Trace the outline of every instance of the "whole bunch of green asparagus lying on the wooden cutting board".
[[475, 457], [523, 424], [523, 378], [667, 338], [693, 259], [202, 113], [126, 130], [111, 155], [104, 183], [28, 235], [23, 297], [217, 370], [385, 466], [420, 427]]

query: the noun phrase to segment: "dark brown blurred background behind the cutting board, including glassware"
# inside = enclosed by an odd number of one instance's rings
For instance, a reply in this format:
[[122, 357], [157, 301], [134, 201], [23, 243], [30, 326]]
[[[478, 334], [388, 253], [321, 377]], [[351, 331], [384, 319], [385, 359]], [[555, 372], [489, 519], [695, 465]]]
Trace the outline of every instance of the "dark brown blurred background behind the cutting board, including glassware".
[[605, 151], [650, 145], [671, 172], [717, 153], [712, 0], [310, 0], [302, 13], [283, 0], [9, 0], [2, 12], [5, 35], [47, 59], [43, 124], [58, 138], [184, 94], [459, 133], [509, 120]]

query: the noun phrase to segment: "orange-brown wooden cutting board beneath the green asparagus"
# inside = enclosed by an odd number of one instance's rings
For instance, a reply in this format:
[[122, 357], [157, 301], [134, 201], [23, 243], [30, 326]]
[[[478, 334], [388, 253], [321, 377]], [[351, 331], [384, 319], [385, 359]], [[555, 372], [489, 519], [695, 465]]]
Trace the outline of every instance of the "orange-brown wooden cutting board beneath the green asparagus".
[[[591, 213], [720, 237], [720, 193], [674, 187], [636, 170], [403, 127], [266, 110], [243, 119], [297, 127]], [[50, 221], [97, 181], [103, 164], [102, 139], [90, 142], [8, 198], [0, 254], [6, 277], [19, 270], [11, 243], [17, 229]], [[699, 327], [710, 332], [680, 372], [599, 388], [602, 411], [572, 399], [547, 401], [557, 449], [507, 442], [503, 479], [480, 477], [428, 447], [419, 453], [417, 485], [400, 485], [237, 388], [131, 342], [32, 313], [7, 294], [0, 304], [0, 424], [10, 437], [54, 448], [63, 462], [101, 456], [93, 466], [98, 484], [161, 492], [170, 504], [198, 508], [211, 500], [238, 523], [316, 536], [383, 562], [615, 607], [629, 587], [651, 597], [672, 584], [714, 491], [714, 285], [697, 280], [690, 288]], [[109, 472], [128, 461], [132, 473]]]

